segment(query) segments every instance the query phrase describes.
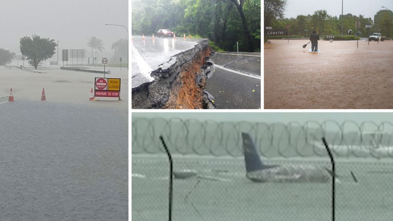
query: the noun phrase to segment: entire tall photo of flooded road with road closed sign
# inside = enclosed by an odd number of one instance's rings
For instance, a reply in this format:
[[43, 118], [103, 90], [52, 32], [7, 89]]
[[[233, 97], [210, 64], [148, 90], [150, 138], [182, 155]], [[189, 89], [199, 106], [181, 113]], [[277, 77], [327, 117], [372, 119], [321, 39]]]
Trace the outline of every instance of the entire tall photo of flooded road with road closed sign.
[[0, 219], [127, 220], [127, 0], [0, 14]]

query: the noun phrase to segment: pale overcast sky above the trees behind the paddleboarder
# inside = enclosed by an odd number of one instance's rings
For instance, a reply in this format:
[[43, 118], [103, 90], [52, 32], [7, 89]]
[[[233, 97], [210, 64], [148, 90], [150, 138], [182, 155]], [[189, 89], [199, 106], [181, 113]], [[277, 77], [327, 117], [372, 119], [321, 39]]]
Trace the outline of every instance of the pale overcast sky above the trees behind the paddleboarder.
[[392, 0], [288, 0], [284, 16], [296, 18], [298, 15], [313, 15], [315, 11], [326, 10], [328, 15], [339, 17], [342, 5], [344, 15], [363, 15], [373, 20], [378, 11], [385, 9], [381, 6], [393, 10]]

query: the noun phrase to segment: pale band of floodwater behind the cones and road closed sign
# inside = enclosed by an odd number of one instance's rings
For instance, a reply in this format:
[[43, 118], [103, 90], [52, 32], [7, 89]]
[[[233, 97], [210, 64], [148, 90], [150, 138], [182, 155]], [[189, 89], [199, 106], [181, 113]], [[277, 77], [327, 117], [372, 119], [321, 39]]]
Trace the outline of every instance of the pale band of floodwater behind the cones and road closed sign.
[[[70, 67], [70, 65], [68, 66]], [[89, 101], [90, 90], [94, 89], [94, 78], [103, 74], [79, 71], [63, 71], [60, 68], [29, 68], [42, 73], [32, 73], [15, 66], [0, 66], [0, 97], [9, 95], [12, 88], [15, 101], [18, 99], [40, 100], [42, 88], [45, 89], [46, 100], [69, 104], [91, 104], [94, 106], [113, 106], [112, 102]], [[90, 68], [94, 69], [94, 67]], [[103, 67], [96, 68], [103, 71]], [[120, 78], [120, 98], [116, 107], [128, 108], [128, 71], [127, 68], [105, 68], [111, 73], [105, 78]], [[106, 100], [114, 100], [108, 98]], [[0, 101], [1, 102], [1, 101]], [[115, 107], [115, 108], [116, 108]]]

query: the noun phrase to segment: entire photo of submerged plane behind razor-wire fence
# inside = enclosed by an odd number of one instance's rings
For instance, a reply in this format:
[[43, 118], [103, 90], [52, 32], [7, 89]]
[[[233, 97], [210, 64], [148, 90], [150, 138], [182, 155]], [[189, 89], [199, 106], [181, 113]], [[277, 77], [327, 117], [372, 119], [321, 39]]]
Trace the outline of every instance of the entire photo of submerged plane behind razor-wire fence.
[[132, 218], [391, 220], [391, 119], [132, 113]]

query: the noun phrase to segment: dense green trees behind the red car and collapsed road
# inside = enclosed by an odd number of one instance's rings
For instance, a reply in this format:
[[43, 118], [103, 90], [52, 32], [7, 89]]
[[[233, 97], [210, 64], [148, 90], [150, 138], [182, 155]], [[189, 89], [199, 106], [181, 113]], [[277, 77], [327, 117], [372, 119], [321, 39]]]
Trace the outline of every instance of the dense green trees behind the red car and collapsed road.
[[261, 48], [259, 0], [133, 0], [132, 33], [152, 35], [170, 29], [176, 37], [209, 38], [226, 51]]

